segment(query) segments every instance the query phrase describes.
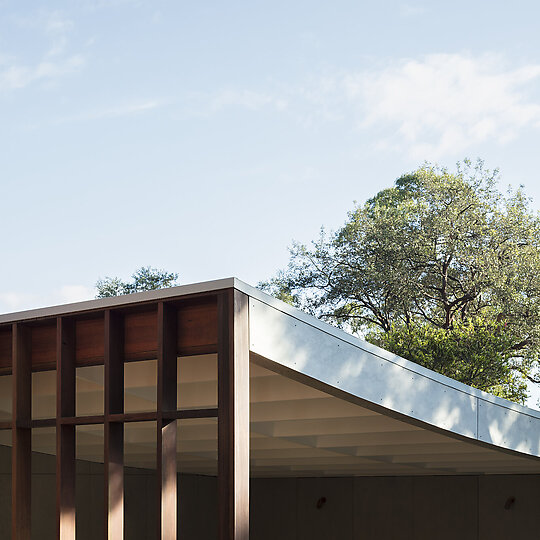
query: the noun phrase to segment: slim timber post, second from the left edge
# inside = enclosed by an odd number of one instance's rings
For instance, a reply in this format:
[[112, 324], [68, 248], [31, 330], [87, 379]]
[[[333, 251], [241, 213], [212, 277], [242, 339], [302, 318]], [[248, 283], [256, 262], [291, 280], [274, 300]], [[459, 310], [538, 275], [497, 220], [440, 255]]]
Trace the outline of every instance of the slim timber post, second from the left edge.
[[58, 317], [56, 326], [56, 523], [60, 540], [75, 540], [75, 323]]

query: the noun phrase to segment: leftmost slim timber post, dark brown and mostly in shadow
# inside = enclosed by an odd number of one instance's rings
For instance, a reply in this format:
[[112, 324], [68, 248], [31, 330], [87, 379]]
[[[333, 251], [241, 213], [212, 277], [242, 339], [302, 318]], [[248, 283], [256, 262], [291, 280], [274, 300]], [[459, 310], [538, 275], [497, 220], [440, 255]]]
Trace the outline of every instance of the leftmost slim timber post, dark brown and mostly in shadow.
[[13, 416], [12, 416], [12, 540], [30, 540], [32, 460], [32, 365], [30, 331], [12, 326]]

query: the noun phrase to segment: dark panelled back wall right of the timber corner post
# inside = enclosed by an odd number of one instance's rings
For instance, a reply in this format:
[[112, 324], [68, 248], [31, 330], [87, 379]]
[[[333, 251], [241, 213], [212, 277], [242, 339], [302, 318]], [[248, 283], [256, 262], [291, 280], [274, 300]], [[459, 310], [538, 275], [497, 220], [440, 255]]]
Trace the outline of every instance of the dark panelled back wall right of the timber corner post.
[[251, 532], [252, 540], [540, 538], [540, 476], [255, 480]]

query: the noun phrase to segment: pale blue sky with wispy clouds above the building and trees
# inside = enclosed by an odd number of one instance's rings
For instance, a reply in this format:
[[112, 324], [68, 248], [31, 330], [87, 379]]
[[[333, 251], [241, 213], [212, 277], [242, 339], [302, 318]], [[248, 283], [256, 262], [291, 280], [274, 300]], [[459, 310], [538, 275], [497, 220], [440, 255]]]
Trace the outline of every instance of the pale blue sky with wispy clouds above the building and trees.
[[537, 2], [0, 0], [0, 312], [255, 284], [424, 160], [540, 208]]

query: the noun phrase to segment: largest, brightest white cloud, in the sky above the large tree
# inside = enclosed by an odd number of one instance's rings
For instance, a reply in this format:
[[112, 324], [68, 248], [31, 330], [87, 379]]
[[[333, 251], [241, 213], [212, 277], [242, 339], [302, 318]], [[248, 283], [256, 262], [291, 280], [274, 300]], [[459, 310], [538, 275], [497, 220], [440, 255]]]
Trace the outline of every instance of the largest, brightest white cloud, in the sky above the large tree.
[[377, 149], [433, 161], [540, 128], [539, 81], [540, 64], [514, 66], [494, 54], [432, 54], [296, 85], [222, 90], [202, 96], [194, 109], [272, 109], [310, 130], [341, 123], [369, 136]]

